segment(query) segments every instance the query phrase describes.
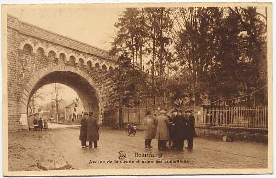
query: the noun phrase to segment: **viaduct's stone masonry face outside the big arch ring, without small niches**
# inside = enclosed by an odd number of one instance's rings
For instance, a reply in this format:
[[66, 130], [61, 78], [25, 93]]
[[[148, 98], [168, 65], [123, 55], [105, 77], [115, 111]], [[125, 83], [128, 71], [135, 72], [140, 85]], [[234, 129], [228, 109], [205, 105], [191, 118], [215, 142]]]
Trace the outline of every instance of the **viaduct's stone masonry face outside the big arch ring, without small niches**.
[[[8, 15], [8, 131], [22, 130], [20, 125], [20, 101], [23, 90], [32, 90], [27, 83], [38, 71], [49, 66], [66, 65], [79, 71], [85, 71], [95, 82], [100, 91], [103, 104], [101, 114], [106, 110], [114, 109], [113, 98], [116, 95], [110, 79], [109, 68], [113, 69], [116, 62], [108, 53], [76, 40], [60, 36], [39, 27], [20, 22], [17, 18]], [[32, 53], [23, 51], [23, 45], [30, 44]], [[37, 53], [42, 48], [43, 55]], [[55, 58], [48, 56], [49, 51], [56, 53]], [[66, 55], [65, 61], [60, 61], [59, 54]], [[69, 60], [70, 56], [75, 62]], [[83, 62], [81, 63], [82, 59]], [[91, 62], [91, 67], [88, 62]], [[99, 65], [99, 67], [95, 64]], [[28, 98], [30, 96], [24, 96]]]

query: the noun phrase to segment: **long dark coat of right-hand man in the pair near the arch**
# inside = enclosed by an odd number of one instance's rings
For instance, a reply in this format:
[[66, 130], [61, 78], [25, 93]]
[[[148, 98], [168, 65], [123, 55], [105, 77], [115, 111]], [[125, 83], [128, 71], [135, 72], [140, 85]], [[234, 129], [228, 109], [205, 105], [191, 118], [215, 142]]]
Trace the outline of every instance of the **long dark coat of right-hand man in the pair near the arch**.
[[99, 140], [99, 126], [97, 119], [93, 116], [88, 116], [86, 120], [87, 124], [87, 141], [98, 141]]

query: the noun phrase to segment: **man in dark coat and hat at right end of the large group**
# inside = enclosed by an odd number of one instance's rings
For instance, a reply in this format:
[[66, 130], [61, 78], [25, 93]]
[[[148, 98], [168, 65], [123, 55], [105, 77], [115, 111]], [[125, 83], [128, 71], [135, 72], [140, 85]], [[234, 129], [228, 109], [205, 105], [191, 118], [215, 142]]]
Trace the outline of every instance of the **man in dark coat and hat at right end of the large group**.
[[186, 113], [188, 115], [187, 120], [186, 120], [188, 146], [185, 147], [185, 148], [192, 149], [193, 148], [194, 137], [196, 136], [195, 118], [193, 116], [193, 110], [187, 110]]

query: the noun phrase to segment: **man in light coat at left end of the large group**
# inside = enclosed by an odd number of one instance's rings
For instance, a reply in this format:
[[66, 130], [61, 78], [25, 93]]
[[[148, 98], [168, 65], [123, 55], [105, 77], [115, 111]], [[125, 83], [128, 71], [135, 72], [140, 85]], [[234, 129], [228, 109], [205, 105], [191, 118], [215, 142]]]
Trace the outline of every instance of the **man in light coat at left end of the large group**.
[[145, 126], [145, 148], [152, 148], [151, 142], [155, 137], [155, 125], [150, 111], [146, 112], [143, 125]]

